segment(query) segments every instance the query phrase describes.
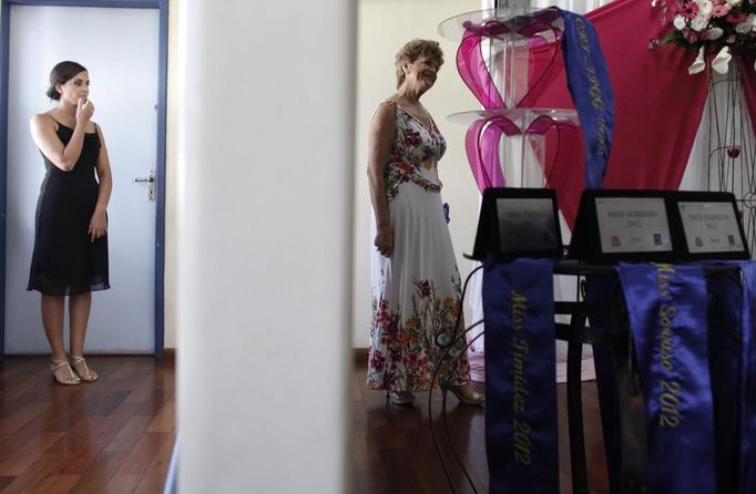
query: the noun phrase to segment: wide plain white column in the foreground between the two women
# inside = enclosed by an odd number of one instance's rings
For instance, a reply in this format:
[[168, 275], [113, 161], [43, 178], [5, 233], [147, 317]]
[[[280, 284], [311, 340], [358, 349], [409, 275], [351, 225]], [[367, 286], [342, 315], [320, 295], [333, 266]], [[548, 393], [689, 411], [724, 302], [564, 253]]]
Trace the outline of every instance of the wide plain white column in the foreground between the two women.
[[355, 7], [172, 8], [180, 492], [345, 492]]

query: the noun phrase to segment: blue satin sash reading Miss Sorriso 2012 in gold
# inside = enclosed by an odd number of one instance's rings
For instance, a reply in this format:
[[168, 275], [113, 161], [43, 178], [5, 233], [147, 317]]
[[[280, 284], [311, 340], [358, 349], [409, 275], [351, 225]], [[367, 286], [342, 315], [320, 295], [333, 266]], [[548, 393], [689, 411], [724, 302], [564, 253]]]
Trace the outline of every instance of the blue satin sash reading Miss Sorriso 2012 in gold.
[[648, 492], [714, 494], [706, 281], [701, 266], [617, 267], [646, 402]]

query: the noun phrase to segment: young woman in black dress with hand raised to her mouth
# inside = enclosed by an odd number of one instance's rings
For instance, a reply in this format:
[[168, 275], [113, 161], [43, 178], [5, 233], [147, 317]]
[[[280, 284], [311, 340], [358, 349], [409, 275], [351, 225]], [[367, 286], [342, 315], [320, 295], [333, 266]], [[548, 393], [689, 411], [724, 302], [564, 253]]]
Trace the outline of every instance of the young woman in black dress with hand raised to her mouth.
[[[30, 122], [47, 174], [37, 203], [28, 289], [42, 294], [50, 369], [61, 384], [98, 379], [83, 357], [84, 336], [92, 291], [110, 288], [106, 208], [113, 181], [102, 130], [91, 120], [89, 83], [89, 73], [79, 63], [57, 64], [50, 72], [48, 96], [58, 105]], [[65, 297], [70, 359], [63, 346]]]

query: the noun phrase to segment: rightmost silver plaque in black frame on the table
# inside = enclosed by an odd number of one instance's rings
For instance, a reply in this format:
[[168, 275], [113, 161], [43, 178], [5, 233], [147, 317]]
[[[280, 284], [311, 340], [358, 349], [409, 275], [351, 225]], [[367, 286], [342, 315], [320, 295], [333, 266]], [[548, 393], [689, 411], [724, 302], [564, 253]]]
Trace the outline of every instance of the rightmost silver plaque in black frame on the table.
[[687, 260], [750, 257], [733, 194], [681, 192], [674, 203]]

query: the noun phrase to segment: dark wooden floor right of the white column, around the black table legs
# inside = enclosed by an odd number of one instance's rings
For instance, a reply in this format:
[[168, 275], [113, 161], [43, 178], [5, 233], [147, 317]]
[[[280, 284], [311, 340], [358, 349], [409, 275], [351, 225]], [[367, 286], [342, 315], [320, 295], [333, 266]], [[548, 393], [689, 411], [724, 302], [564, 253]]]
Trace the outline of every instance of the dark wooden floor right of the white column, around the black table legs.
[[[365, 359], [366, 361], [367, 359]], [[449, 485], [433, 447], [428, 414], [428, 393], [419, 393], [412, 408], [389, 404], [382, 391], [365, 389], [366, 366], [355, 366], [353, 391], [353, 492], [360, 494], [441, 494], [487, 493], [484, 411], [459, 406], [449, 398], [447, 422], [450, 436], [470, 474], [471, 483], [454, 462], [443, 434], [441, 395], [433, 393], [432, 415], [447, 462], [450, 464]], [[482, 391], [482, 387], [479, 387]], [[560, 492], [571, 493], [569, 439], [566, 434], [566, 389], [558, 385], [560, 420]], [[591, 492], [609, 492], [604, 461], [595, 382], [583, 383], [585, 450]], [[472, 484], [472, 486], [471, 486]], [[473, 487], [474, 486], [474, 487]], [[525, 493], [523, 493], [525, 494]]]

